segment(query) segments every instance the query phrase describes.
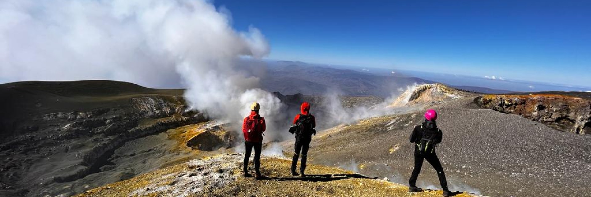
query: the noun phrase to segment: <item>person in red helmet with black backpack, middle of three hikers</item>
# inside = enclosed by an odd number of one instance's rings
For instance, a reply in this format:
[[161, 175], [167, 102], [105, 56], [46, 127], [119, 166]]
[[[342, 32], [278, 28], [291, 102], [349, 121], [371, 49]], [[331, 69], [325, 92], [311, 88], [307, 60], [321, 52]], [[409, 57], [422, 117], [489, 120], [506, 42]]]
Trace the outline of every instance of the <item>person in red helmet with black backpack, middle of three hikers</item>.
[[308, 102], [304, 102], [301, 104], [301, 114], [296, 115], [294, 118], [293, 125], [290, 127], [290, 133], [296, 134], [296, 147], [295, 147], [295, 154], [293, 159], [291, 160], [291, 175], [298, 176], [296, 173], [297, 167], [297, 160], [300, 157], [301, 151], [301, 166], [300, 166], [300, 175], [304, 175], [304, 170], [306, 169], [306, 159], [308, 154], [308, 149], [310, 148], [310, 141], [312, 141], [312, 135], [316, 135], [316, 118], [312, 114], [310, 114], [310, 104]]

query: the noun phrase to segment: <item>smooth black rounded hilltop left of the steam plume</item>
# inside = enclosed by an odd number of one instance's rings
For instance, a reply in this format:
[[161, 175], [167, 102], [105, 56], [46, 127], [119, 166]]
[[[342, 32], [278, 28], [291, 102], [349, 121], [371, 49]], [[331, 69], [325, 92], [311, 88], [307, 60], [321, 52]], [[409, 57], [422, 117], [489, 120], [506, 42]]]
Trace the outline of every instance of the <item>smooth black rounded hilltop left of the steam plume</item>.
[[113, 106], [132, 108], [129, 99], [142, 95], [183, 99], [183, 90], [150, 89], [108, 80], [5, 83], [0, 85], [0, 136], [38, 128], [40, 125], [30, 124], [35, 115], [83, 112]]

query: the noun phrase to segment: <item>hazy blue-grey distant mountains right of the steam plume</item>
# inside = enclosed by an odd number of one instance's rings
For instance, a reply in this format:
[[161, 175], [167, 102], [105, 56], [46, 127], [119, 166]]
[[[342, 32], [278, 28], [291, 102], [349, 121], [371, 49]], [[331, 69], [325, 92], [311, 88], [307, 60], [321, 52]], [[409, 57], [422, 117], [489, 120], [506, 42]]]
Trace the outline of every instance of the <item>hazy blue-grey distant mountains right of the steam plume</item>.
[[[261, 77], [262, 88], [285, 95], [375, 95], [388, 98], [399, 95], [408, 86], [436, 83], [432, 80], [400, 74], [378, 75], [350, 69], [337, 69], [304, 62], [268, 62], [267, 73]], [[512, 91], [476, 86], [453, 86], [453, 88], [480, 93], [509, 93]]]

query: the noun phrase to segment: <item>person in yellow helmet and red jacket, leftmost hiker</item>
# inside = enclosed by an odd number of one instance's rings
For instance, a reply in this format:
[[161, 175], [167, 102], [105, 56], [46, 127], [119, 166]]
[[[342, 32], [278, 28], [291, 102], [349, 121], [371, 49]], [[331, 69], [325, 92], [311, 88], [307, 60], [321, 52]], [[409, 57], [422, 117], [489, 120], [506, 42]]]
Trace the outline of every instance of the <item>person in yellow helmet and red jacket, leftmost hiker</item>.
[[265, 118], [258, 114], [261, 105], [257, 102], [251, 105], [251, 115], [244, 118], [242, 123], [242, 133], [244, 134], [244, 140], [246, 152], [244, 153], [244, 165], [243, 172], [244, 177], [252, 177], [248, 173], [248, 159], [251, 157], [252, 148], [255, 148], [255, 179], [260, 179], [261, 171], [261, 148], [262, 148], [262, 135], [267, 125], [265, 125]]

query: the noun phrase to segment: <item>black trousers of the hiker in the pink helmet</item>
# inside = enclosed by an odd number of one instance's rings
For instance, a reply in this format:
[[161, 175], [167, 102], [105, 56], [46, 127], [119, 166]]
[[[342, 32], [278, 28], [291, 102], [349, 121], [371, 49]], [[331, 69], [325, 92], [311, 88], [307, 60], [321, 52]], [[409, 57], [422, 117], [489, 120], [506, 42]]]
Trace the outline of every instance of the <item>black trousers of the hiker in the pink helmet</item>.
[[411, 187], [417, 186], [417, 177], [418, 177], [418, 173], [421, 173], [421, 167], [423, 166], [423, 160], [427, 160], [427, 162], [429, 162], [429, 164], [431, 164], [431, 166], [433, 166], [433, 168], [437, 172], [437, 177], [439, 177], [439, 183], [441, 184], [441, 189], [448, 190], [447, 179], [445, 178], [445, 173], [443, 172], [443, 167], [441, 167], [441, 162], [439, 162], [439, 158], [437, 158], [437, 154], [435, 154], [435, 153], [423, 155], [423, 154], [417, 153], [417, 151], [415, 151], [413, 174], [410, 176], [410, 180], [408, 180], [408, 185], [410, 185]]

